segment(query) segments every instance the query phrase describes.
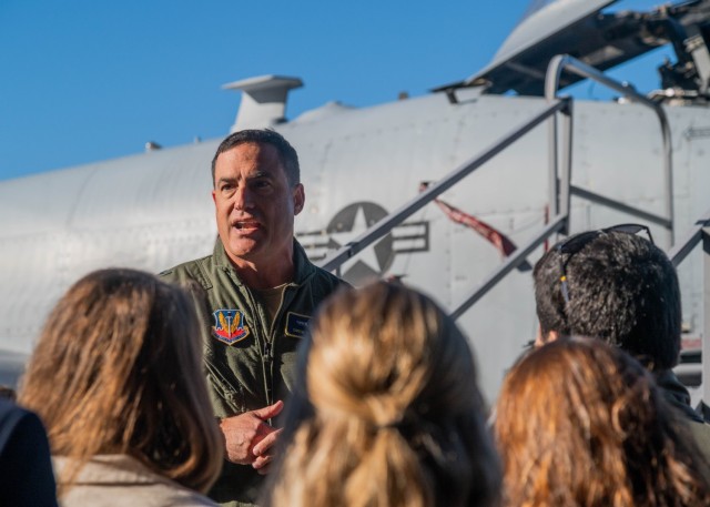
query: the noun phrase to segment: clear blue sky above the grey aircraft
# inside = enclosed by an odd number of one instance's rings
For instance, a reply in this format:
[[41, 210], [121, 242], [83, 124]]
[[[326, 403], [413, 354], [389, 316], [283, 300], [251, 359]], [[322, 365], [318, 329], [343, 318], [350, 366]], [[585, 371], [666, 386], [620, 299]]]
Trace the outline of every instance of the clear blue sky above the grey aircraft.
[[288, 118], [424, 94], [487, 64], [528, 3], [0, 0], [0, 180], [221, 138], [240, 101], [221, 85], [255, 75], [303, 79]]

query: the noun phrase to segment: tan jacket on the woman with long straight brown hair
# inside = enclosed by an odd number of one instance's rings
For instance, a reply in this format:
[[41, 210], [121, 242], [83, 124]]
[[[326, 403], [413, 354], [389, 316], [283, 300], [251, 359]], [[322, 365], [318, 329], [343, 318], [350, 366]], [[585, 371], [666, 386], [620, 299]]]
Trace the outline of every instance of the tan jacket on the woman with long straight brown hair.
[[[53, 457], [57, 484], [69, 458]], [[126, 455], [94, 456], [60, 498], [62, 507], [216, 507], [207, 497], [149, 469]]]

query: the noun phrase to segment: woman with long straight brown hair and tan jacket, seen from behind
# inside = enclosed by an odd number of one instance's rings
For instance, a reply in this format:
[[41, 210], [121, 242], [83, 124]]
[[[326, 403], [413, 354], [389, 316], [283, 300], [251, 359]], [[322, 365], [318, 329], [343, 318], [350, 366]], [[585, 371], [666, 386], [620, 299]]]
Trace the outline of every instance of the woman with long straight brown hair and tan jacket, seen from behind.
[[222, 444], [191, 298], [133, 270], [77, 282], [50, 314], [20, 403], [42, 418], [64, 507], [215, 505]]

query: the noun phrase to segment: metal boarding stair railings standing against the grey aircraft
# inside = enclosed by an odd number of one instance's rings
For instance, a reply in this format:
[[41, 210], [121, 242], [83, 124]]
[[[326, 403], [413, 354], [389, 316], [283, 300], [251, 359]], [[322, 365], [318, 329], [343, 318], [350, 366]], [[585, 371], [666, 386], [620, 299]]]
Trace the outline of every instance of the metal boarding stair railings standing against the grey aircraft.
[[[628, 204], [611, 200], [604, 195], [590, 192], [585, 189], [577, 187], [571, 184], [571, 149], [572, 149], [572, 99], [569, 97], [558, 97], [557, 89], [562, 71], [576, 73], [582, 78], [597, 81], [619, 93], [632, 102], [638, 102], [653, 110], [657, 114], [661, 134], [663, 139], [663, 171], [666, 182], [666, 216], [659, 216], [647, 211], [630, 206]], [[449, 92], [450, 93], [450, 92]], [[355, 256], [364, 249], [389, 233], [395, 226], [399, 225], [410, 215], [419, 211], [429, 202], [434, 201], [446, 190], [454, 186], [460, 180], [476, 171], [490, 159], [503, 152], [505, 149], [515, 143], [518, 139], [526, 135], [532, 129], [544, 121], [548, 122], [549, 129], [549, 210], [551, 219], [545, 227], [539, 231], [532, 240], [520, 245], [513, 252], [506, 261], [496, 268], [478, 287], [471, 291], [462, 303], [450, 310], [453, 318], [458, 318], [477, 301], [496, 286], [508, 273], [526, 262], [526, 257], [539, 247], [552, 234], [569, 233], [570, 225], [570, 199], [576, 195], [597, 204], [606, 205], [618, 211], [626, 212], [638, 219], [651, 222], [665, 227], [668, 232], [668, 245], [670, 250], [668, 256], [674, 266], [678, 266], [688, 256], [688, 254], [702, 244], [703, 255], [703, 328], [702, 328], [702, 357], [710, 357], [710, 210], [701, 216], [692, 230], [682, 241], [674, 243], [673, 237], [673, 186], [672, 186], [672, 149], [671, 138], [666, 112], [660, 104], [657, 104], [646, 97], [639, 94], [636, 89], [628, 83], [615, 81], [597, 69], [589, 67], [579, 60], [569, 55], [557, 55], [550, 60], [547, 70], [545, 95], [549, 105], [540, 113], [530, 118], [519, 126], [513, 129], [500, 140], [484, 149], [477, 155], [456, 168], [452, 173], [443, 180], [430, 184], [427, 190], [422, 192], [408, 203], [395, 210], [377, 223], [373, 224], [367, 231], [358, 237], [342, 246], [337, 251], [327, 255], [320, 266], [327, 271], [338, 271], [339, 267], [349, 258]], [[561, 133], [558, 132], [558, 115], [561, 116]], [[681, 365], [682, 367], [682, 365]], [[701, 374], [698, 375], [696, 369], [687, 367], [689, 376], [700, 376], [701, 378], [710, 378], [710, 361], [703, 362]], [[700, 384], [698, 382], [697, 384]], [[710, 400], [710, 382], [702, 383], [702, 399]]]

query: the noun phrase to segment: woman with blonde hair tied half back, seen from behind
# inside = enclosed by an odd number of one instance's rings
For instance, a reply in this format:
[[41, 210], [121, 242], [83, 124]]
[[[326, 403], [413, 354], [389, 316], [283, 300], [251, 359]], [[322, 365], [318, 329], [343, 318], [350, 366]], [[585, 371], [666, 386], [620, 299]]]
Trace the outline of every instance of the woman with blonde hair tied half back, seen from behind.
[[266, 506], [494, 505], [471, 352], [432, 300], [375, 283], [327, 300], [300, 351]]

